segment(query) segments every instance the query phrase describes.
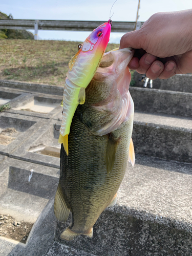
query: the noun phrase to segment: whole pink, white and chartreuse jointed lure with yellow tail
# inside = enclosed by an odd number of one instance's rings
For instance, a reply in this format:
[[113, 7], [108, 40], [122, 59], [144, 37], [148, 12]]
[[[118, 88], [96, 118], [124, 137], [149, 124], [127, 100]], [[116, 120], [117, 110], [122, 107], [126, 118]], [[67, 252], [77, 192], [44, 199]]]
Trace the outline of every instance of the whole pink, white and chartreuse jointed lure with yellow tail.
[[97, 71], [102, 56], [108, 45], [112, 20], [103, 23], [86, 38], [79, 51], [69, 62], [69, 70], [65, 81], [62, 122], [58, 142], [63, 144], [66, 154], [68, 150], [68, 135], [71, 122], [78, 104], [86, 100], [86, 88]]

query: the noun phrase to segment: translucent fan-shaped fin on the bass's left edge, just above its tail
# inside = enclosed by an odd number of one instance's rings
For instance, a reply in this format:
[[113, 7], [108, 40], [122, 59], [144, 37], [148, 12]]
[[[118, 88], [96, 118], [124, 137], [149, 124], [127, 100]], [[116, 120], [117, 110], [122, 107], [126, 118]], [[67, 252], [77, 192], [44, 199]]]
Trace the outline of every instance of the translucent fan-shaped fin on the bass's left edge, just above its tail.
[[57, 220], [61, 222], [66, 222], [70, 213], [70, 209], [67, 206], [65, 199], [63, 197], [60, 183], [58, 184], [55, 195], [54, 213]]

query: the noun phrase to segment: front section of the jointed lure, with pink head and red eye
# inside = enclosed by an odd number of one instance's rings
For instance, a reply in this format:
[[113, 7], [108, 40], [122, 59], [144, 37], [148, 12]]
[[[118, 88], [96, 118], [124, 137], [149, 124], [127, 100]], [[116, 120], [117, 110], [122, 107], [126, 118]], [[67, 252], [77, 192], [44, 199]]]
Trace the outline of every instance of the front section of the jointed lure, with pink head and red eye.
[[108, 45], [110, 32], [110, 22], [105, 22], [94, 29], [70, 60], [67, 77], [77, 86], [86, 88], [90, 83]]

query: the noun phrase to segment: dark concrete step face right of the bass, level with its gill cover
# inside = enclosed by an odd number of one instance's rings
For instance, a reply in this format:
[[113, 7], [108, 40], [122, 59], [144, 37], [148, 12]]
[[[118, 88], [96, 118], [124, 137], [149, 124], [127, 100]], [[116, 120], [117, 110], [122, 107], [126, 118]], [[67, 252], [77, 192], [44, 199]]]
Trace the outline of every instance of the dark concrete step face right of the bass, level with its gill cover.
[[130, 93], [135, 110], [192, 117], [192, 93], [137, 87], [130, 87]]

